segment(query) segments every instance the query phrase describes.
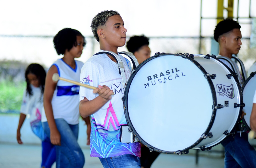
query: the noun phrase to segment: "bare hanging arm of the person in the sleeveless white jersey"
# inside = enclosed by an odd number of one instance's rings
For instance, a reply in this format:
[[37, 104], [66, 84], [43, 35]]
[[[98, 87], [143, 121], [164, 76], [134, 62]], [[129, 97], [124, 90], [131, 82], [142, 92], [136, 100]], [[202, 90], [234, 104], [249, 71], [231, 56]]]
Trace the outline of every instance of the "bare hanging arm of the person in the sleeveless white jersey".
[[57, 67], [52, 66], [46, 75], [45, 90], [44, 90], [44, 108], [45, 116], [50, 128], [50, 139], [53, 145], [61, 145], [61, 134], [59, 133], [52, 111], [52, 96], [57, 83], [52, 81], [52, 75], [58, 73]]

